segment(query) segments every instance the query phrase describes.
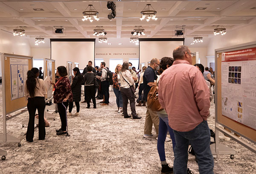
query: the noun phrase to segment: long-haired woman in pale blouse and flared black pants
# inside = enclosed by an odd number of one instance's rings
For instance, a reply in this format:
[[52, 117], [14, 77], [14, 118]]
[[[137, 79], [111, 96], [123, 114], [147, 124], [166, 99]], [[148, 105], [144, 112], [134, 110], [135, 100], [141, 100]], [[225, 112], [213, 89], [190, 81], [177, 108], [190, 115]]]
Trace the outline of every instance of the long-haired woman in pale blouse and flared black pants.
[[29, 124], [26, 133], [26, 141], [33, 142], [34, 138], [34, 124], [35, 124], [35, 111], [38, 110], [38, 138], [44, 140], [45, 138], [45, 125], [44, 125], [44, 108], [47, 96], [47, 89], [44, 86], [44, 80], [38, 78], [39, 70], [32, 68], [27, 72], [27, 80], [24, 84], [25, 97], [28, 100], [29, 111]]

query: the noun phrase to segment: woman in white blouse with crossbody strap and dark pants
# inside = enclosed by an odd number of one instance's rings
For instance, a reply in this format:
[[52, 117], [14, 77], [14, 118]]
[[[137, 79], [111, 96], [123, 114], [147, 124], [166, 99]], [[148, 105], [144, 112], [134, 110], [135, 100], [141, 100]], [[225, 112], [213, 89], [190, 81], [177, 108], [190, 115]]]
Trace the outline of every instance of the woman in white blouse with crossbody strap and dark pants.
[[[130, 107], [131, 107], [131, 115], [133, 119], [141, 119], [141, 116], [138, 116], [135, 110], [135, 96], [134, 96], [134, 90], [135, 84], [134, 84], [134, 78], [131, 76], [131, 72], [129, 71], [129, 63], [125, 61], [122, 65], [122, 69], [120, 71], [120, 79], [121, 79], [121, 86], [120, 90], [122, 93], [122, 99], [123, 99], [123, 114], [124, 118], [130, 118], [131, 116], [128, 116], [127, 113], [127, 104], [128, 99], [130, 101]], [[134, 89], [132, 89], [132, 87]]]

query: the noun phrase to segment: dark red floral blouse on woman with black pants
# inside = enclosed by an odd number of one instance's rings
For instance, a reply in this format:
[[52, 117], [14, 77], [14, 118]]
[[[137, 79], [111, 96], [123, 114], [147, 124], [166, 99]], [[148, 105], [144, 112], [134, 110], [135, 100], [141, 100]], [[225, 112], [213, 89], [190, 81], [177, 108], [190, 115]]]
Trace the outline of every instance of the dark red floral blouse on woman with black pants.
[[68, 77], [62, 77], [54, 85], [53, 100], [54, 103], [61, 103], [66, 96], [70, 93], [68, 98], [69, 102], [73, 101], [73, 94], [71, 92], [70, 81]]

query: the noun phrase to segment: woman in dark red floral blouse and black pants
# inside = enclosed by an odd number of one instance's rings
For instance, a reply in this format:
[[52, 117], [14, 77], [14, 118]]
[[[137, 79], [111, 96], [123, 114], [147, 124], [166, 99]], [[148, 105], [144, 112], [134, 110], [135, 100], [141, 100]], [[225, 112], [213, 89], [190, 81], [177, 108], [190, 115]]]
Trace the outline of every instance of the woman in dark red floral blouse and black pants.
[[[58, 113], [61, 118], [61, 128], [56, 129], [56, 134], [61, 135], [67, 133], [67, 118], [66, 118], [66, 109], [69, 102], [72, 102], [73, 95], [71, 92], [70, 81], [67, 77], [67, 69], [64, 66], [57, 68], [56, 75], [61, 78], [58, 79], [56, 83], [51, 81], [51, 84], [54, 85], [53, 90], [53, 100], [54, 103], [58, 105]], [[63, 104], [65, 107], [63, 106]]]

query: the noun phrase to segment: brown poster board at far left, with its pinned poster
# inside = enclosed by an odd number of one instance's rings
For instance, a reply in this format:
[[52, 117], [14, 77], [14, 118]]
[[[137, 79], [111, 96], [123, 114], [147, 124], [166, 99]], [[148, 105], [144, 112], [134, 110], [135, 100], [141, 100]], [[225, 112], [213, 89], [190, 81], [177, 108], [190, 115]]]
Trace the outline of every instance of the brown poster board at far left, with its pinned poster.
[[[2, 53], [3, 109], [9, 114], [26, 107], [24, 82], [32, 68], [32, 57]], [[16, 72], [15, 72], [16, 69]], [[17, 77], [17, 78], [16, 78]], [[15, 96], [16, 95], [16, 96]]]

